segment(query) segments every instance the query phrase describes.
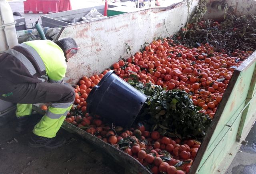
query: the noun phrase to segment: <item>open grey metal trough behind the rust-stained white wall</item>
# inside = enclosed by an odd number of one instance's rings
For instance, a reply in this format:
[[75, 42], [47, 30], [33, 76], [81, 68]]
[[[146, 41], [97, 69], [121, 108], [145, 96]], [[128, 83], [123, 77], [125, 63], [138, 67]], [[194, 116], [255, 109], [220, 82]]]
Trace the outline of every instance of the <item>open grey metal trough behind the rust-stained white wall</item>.
[[[78, 10], [69, 10], [65, 12], [58, 12], [58, 13], [52, 13], [52, 14], [46, 14], [42, 15], [42, 26], [43, 27], [60, 27], [60, 26], [68, 26], [70, 23], [63, 22], [62, 18], [75, 18], [75, 22], [73, 24], [76, 24], [78, 22], [88, 22], [92, 20], [97, 20], [101, 18], [106, 18], [107, 16], [97, 18], [97, 19], [91, 19], [91, 20], [82, 20], [82, 17], [85, 16], [92, 8], [96, 8], [97, 11], [101, 14], [104, 14], [104, 5], [102, 6], [95, 6], [95, 7], [89, 7], [89, 8], [82, 8]], [[108, 5], [108, 8], [113, 8], [116, 6]]]

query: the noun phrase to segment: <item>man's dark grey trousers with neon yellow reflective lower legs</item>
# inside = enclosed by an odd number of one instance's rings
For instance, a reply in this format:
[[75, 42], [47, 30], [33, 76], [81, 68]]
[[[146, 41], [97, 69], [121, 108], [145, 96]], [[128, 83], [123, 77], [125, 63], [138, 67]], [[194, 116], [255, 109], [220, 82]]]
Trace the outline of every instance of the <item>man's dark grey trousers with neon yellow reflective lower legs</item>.
[[52, 138], [56, 136], [56, 132], [60, 129], [72, 103], [74, 103], [75, 92], [69, 84], [22, 83], [10, 86], [10, 91], [0, 90], [0, 99], [18, 103], [17, 117], [30, 115], [31, 104], [52, 103], [33, 130], [34, 134], [38, 136]]

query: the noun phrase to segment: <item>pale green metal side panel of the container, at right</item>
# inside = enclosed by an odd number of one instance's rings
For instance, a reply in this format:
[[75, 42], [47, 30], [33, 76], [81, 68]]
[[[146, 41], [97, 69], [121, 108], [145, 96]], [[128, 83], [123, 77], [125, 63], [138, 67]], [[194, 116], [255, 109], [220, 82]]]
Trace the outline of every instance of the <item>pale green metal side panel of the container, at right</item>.
[[[249, 123], [252, 119], [256, 107], [248, 105], [248, 96], [255, 91], [255, 77], [253, 77], [255, 65], [256, 53], [234, 71], [212, 124], [191, 166], [190, 173], [213, 173], [236, 143], [238, 127], [243, 128], [246, 126], [244, 123]], [[255, 100], [252, 99], [252, 101]], [[250, 110], [250, 114], [247, 114], [249, 112], [246, 112], [246, 107]], [[243, 114], [245, 116], [242, 122], [244, 125], [241, 123]]]

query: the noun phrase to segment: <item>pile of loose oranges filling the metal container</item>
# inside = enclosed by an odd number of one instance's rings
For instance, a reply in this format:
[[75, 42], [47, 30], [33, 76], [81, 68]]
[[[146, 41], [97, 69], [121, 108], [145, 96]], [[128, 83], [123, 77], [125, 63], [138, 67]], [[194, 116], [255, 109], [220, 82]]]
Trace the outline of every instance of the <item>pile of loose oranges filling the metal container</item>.
[[[130, 75], [134, 74], [144, 84], [151, 82], [166, 90], [182, 89], [190, 93], [194, 105], [202, 107], [200, 112], [213, 118], [234, 70], [249, 56], [249, 53], [235, 50], [231, 55], [216, 52], [208, 44], [190, 49], [184, 45], [175, 45], [173, 40], [163, 39], [150, 43], [143, 52], [135, 53], [126, 61], [122, 59], [114, 63], [112, 69], [125, 81], [133, 79], [134, 76]], [[103, 71], [100, 75], [84, 76], [80, 79], [74, 89], [76, 92], [74, 104], [84, 115], [68, 113], [66, 121], [77, 127], [86, 128], [86, 132], [117, 147], [118, 142], [123, 138], [134, 138], [136, 142], [122, 150], [144, 166], [148, 166], [153, 174], [187, 173], [200, 147], [197, 141], [182, 141], [179, 138], [173, 140], [161, 136], [159, 132], [149, 132], [144, 127], [116, 133], [109, 125], [102, 123], [98, 116], [93, 118], [86, 113], [86, 99], [90, 91], [109, 70]], [[74, 109], [72, 107], [71, 110]], [[140, 135], [135, 136], [138, 133]], [[168, 160], [165, 158], [166, 152], [172, 155]], [[174, 165], [184, 160], [191, 162], [177, 170]]]

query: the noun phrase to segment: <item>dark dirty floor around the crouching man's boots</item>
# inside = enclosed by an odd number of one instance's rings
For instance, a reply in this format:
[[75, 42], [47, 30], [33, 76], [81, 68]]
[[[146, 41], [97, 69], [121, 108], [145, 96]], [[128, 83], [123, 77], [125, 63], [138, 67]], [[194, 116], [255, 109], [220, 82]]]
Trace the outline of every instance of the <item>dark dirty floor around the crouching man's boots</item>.
[[24, 134], [15, 133], [16, 120], [0, 127], [1, 174], [120, 174], [123, 168], [114, 159], [91, 144], [60, 129], [66, 144], [57, 149], [30, 148], [27, 143], [31, 130], [39, 121], [34, 115]]

